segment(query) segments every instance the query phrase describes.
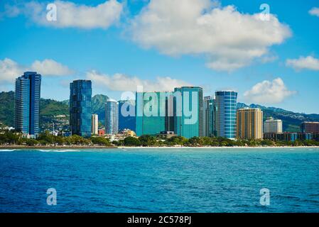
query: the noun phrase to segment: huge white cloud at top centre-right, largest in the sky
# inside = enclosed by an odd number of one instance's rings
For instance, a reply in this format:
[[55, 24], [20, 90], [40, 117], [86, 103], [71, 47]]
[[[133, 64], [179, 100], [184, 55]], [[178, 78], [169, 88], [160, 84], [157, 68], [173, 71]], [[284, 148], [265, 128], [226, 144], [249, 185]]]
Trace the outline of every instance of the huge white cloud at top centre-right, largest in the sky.
[[232, 71], [267, 54], [291, 36], [288, 26], [270, 15], [240, 13], [210, 0], [151, 0], [132, 21], [132, 39], [165, 55], [205, 55], [207, 67]]

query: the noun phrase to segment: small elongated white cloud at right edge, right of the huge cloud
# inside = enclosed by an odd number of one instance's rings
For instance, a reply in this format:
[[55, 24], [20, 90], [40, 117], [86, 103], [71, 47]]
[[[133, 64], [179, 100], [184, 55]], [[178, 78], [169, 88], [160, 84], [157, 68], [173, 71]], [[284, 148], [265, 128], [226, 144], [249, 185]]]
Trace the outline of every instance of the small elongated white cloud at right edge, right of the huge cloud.
[[308, 57], [299, 57], [298, 59], [288, 59], [286, 60], [286, 66], [293, 67], [293, 69], [300, 70], [319, 70], [319, 59], [308, 56]]

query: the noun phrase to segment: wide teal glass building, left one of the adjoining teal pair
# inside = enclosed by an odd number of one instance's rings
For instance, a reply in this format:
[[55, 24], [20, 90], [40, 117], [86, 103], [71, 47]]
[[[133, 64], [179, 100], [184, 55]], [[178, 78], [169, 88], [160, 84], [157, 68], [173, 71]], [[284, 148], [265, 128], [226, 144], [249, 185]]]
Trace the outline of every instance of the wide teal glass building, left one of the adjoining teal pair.
[[173, 131], [171, 92], [136, 92], [136, 135]]

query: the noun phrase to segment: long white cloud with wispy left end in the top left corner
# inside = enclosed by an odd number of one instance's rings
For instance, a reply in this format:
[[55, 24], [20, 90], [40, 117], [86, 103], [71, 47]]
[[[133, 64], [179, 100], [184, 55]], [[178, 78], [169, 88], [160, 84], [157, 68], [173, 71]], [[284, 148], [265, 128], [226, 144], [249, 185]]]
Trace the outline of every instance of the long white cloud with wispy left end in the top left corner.
[[18, 6], [6, 5], [6, 16], [20, 14], [30, 18], [34, 23], [56, 28], [109, 28], [119, 21], [123, 4], [117, 0], [105, 1], [97, 6], [75, 4], [70, 1], [53, 1], [57, 9], [57, 20], [47, 20], [47, 4], [30, 1]]

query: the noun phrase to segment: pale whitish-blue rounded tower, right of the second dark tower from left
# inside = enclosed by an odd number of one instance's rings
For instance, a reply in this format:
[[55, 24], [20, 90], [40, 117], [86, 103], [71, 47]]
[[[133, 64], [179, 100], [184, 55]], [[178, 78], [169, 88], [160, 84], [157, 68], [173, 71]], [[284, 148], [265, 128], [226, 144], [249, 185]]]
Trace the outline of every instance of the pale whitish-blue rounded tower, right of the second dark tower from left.
[[119, 104], [114, 99], [107, 99], [105, 104], [105, 133], [116, 135], [119, 132]]

